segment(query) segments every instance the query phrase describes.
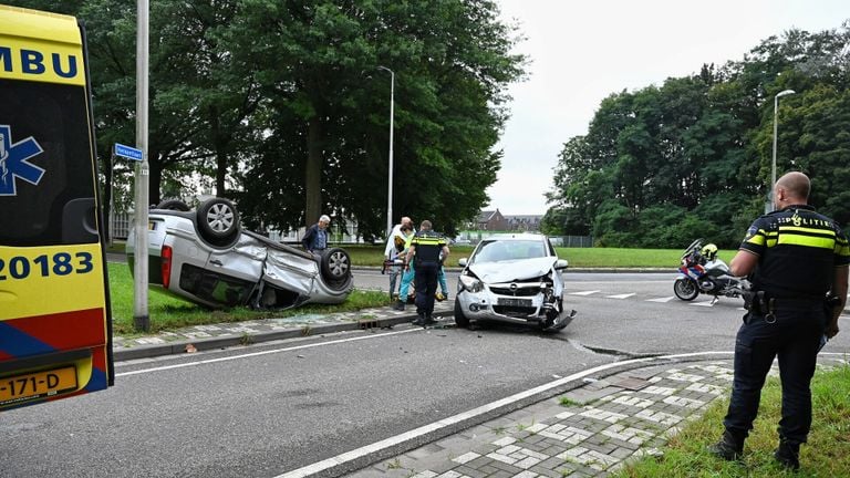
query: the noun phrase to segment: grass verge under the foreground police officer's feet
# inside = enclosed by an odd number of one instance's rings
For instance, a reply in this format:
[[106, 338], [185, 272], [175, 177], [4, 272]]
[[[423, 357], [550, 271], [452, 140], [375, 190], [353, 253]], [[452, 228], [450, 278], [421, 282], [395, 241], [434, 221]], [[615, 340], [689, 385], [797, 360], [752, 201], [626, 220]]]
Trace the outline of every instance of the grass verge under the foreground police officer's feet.
[[771, 377], [761, 393], [758, 418], [745, 444], [742, 463], [724, 461], [705, 450], [723, 434], [728, 406], [725, 399], [715, 402], [701, 418], [671, 438], [662, 449], [663, 456], [644, 457], [610, 477], [850, 477], [850, 366], [819, 368], [811, 389], [813, 422], [809, 443], [800, 448], [798, 474], [784, 470], [774, 461], [781, 389], [779, 380]]

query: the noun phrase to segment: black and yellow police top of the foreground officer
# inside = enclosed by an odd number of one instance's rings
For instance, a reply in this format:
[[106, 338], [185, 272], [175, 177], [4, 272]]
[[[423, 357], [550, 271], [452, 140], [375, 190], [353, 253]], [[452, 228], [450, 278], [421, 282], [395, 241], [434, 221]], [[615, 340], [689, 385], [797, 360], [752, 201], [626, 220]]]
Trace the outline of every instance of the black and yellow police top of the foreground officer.
[[844, 233], [810, 206], [789, 206], [759, 217], [740, 249], [759, 257], [754, 289], [777, 298], [823, 300], [835, 268], [850, 263]]

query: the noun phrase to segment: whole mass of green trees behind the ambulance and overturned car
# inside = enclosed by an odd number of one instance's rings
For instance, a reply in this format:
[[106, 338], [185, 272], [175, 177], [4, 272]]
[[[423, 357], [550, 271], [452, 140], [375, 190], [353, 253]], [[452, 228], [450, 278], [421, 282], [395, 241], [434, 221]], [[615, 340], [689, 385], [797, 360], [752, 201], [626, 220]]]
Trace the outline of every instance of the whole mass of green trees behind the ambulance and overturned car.
[[[136, 2], [10, 3], [84, 21], [101, 158], [133, 144]], [[524, 76], [498, 12], [491, 0], [151, 0], [151, 201], [215, 187], [249, 227], [329, 214], [383, 236], [383, 66], [395, 80], [393, 211], [455, 232], [488, 201], [505, 90]], [[102, 164], [132, 197], [129, 168]]]

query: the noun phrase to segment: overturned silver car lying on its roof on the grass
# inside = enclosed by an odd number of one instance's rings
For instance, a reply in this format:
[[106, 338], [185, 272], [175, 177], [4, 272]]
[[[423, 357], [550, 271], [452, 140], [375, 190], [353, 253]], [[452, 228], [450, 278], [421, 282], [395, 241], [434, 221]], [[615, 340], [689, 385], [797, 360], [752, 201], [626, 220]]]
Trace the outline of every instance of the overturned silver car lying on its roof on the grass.
[[[135, 238], [127, 239], [131, 271]], [[211, 306], [288, 309], [335, 304], [353, 289], [351, 259], [340, 248], [322, 254], [242, 230], [232, 202], [212, 198], [197, 210], [165, 201], [148, 215], [149, 284]]]

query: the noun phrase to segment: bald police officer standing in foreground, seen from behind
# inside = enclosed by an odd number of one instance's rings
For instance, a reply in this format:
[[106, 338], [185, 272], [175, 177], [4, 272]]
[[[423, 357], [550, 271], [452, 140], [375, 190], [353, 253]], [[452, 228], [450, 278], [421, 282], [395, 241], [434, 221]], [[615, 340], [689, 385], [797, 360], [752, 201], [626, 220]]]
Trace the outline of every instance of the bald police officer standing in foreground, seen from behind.
[[[753, 429], [765, 377], [779, 358], [782, 418], [775, 459], [799, 469], [800, 444], [811, 426], [810, 382], [821, 337], [838, 333], [850, 249], [835, 221], [807, 206], [809, 178], [788, 173], [774, 186], [775, 211], [747, 230], [730, 269], [751, 276], [748, 312], [735, 343], [735, 378], [721, 440], [709, 451], [736, 460]], [[827, 293], [835, 299], [826, 301]]]

